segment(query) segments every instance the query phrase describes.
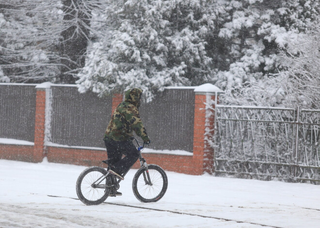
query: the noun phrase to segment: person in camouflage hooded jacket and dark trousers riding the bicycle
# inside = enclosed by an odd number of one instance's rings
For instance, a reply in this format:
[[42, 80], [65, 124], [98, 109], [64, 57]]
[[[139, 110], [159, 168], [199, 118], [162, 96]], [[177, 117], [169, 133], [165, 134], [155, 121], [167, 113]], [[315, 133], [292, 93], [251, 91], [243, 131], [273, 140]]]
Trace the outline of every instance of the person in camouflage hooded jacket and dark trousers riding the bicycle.
[[[150, 139], [144, 128], [139, 114], [139, 106], [143, 91], [131, 88], [125, 93], [125, 101], [121, 102], [114, 110], [111, 121], [103, 136], [108, 154], [108, 171], [124, 180], [123, 174], [138, 160], [139, 152], [130, 138], [133, 131], [144, 140], [145, 144]], [[122, 158], [122, 154], [126, 155]], [[121, 196], [120, 192], [116, 192]]]

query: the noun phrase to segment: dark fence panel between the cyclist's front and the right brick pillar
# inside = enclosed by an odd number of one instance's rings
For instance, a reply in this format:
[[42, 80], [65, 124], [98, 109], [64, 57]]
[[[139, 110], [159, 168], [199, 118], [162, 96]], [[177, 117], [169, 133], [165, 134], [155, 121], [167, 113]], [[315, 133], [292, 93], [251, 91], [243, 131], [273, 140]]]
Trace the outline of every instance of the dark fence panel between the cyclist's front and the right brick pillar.
[[166, 89], [139, 112], [156, 150], [193, 151], [194, 91]]

